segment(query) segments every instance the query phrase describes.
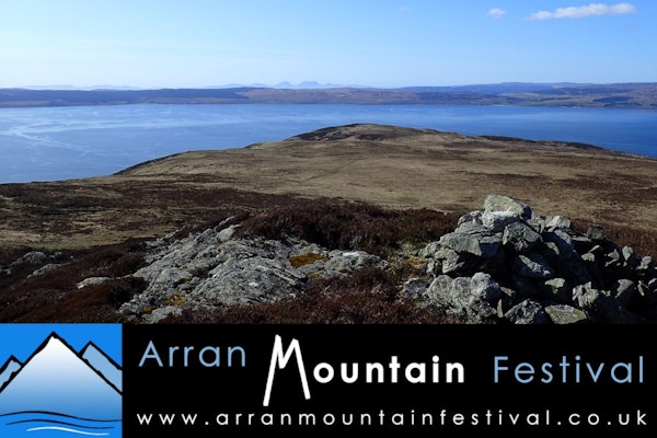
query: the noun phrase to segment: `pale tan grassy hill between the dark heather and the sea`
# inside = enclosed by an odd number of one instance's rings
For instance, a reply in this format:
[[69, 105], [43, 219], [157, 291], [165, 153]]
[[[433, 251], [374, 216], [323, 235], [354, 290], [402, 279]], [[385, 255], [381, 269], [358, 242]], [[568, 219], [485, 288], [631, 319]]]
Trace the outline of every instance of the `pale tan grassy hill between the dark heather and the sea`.
[[654, 230], [656, 172], [657, 160], [588, 145], [351, 125], [168, 157], [114, 178], [192, 177], [257, 193], [461, 212], [488, 193], [505, 193], [543, 211]]

